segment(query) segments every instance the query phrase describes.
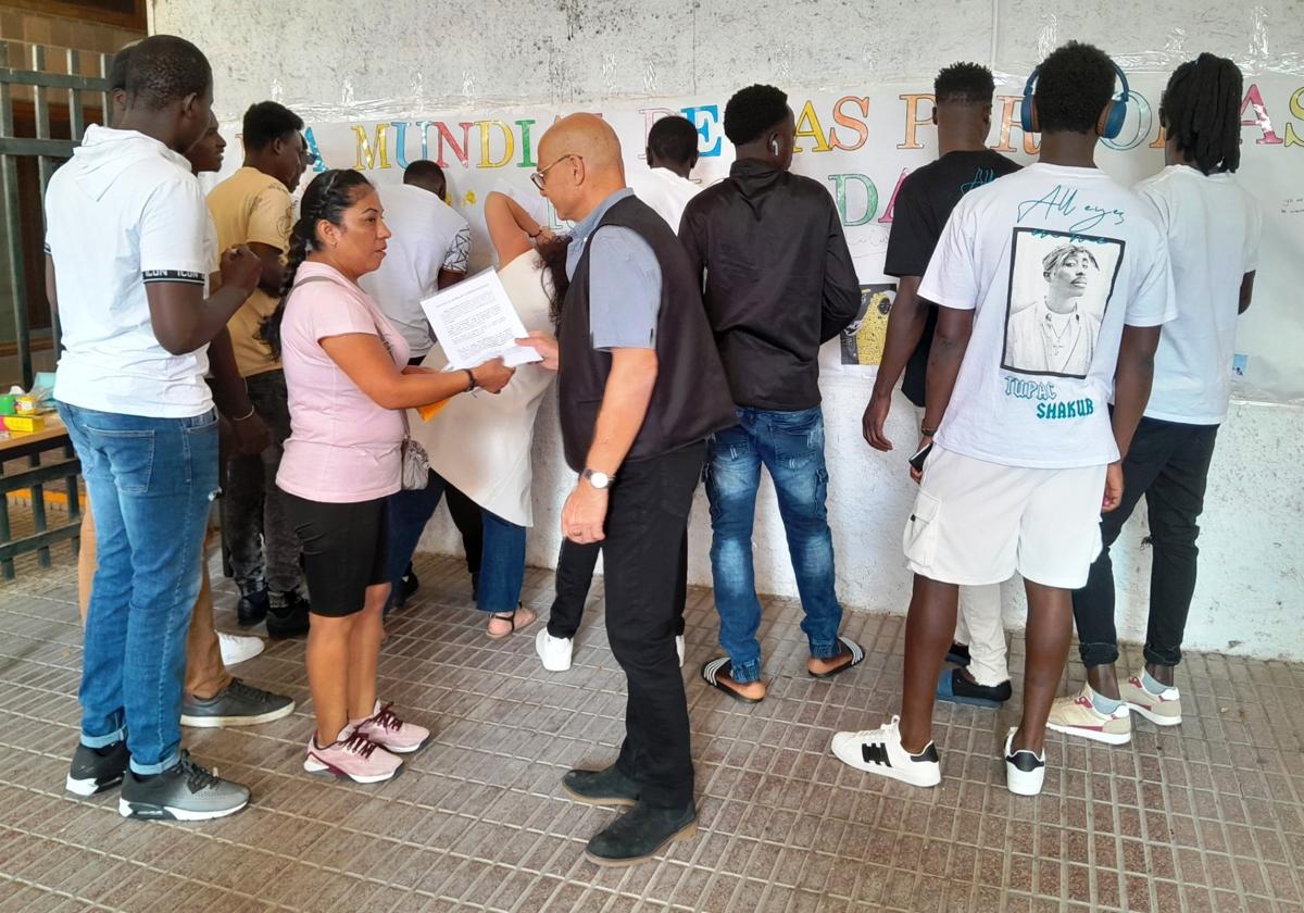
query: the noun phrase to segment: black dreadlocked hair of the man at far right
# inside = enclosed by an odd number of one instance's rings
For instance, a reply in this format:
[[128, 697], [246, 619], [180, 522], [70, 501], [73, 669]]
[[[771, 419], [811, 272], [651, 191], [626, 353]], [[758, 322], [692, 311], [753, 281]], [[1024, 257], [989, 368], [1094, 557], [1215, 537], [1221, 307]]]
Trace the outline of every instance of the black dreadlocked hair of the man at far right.
[[1201, 53], [1174, 70], [1159, 102], [1159, 123], [1188, 162], [1211, 175], [1240, 167], [1240, 68]]

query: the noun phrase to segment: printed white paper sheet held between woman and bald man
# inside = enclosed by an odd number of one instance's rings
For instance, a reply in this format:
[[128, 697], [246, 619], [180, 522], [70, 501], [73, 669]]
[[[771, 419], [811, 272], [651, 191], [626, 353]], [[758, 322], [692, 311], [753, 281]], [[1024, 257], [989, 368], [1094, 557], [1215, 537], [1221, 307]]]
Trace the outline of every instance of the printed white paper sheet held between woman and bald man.
[[516, 344], [528, 335], [526, 325], [492, 269], [432, 295], [421, 309], [454, 370], [498, 357], [509, 368], [542, 360], [535, 350]]

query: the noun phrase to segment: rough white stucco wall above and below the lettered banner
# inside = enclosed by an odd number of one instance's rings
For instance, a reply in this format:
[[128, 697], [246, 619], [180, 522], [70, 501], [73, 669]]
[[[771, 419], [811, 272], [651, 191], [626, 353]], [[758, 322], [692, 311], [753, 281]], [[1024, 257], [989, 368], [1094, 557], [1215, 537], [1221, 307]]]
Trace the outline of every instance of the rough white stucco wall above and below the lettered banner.
[[[728, 94], [755, 81], [789, 91], [931, 81], [956, 60], [1025, 74], [1067, 38], [1098, 43], [1125, 65], [1163, 69], [1213, 51], [1256, 69], [1304, 72], [1296, 0], [1248, 4], [1159, 0], [558, 0], [532, 3], [336, 3], [308, 9], [262, 0], [153, 0], [155, 31], [181, 34], [209, 52], [224, 121], [249, 103], [280, 98], [310, 112], [348, 107], [357, 116], [430, 107], [502, 103], [578, 106], [617, 97]], [[1304, 157], [1301, 157], [1304, 164]], [[1304, 171], [1301, 171], [1304, 173]], [[1262, 310], [1262, 308], [1260, 308]], [[1251, 312], [1248, 320], [1256, 320]], [[909, 575], [901, 527], [913, 486], [904, 454], [878, 454], [861, 440], [870, 383], [824, 381], [829, 519], [838, 591], [850, 608], [904, 612]], [[913, 442], [911, 412], [893, 412], [893, 440]], [[1300, 406], [1236, 403], [1219, 436], [1205, 516], [1201, 578], [1187, 643], [1192, 648], [1304, 659], [1304, 470]], [[536, 440], [536, 516], [531, 563], [552, 566], [557, 518], [570, 484], [561, 460], [556, 404]], [[709, 524], [699, 492], [690, 578], [709, 584]], [[1145, 633], [1149, 557], [1145, 522], [1133, 518], [1119, 545], [1119, 623]], [[441, 510], [425, 539], [458, 550]], [[768, 483], [755, 539], [756, 580], [795, 595], [782, 527]], [[1022, 625], [1022, 599], [1007, 584], [1007, 617]]]

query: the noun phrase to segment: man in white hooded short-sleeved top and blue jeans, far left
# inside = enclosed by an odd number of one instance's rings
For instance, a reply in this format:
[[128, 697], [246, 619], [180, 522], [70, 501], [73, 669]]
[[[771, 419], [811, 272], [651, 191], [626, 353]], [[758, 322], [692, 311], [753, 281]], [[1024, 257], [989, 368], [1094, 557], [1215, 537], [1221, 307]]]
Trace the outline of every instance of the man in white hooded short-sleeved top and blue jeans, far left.
[[46, 196], [46, 274], [65, 351], [55, 399], [82, 462], [99, 566], [82, 651], [81, 741], [67, 788], [123, 785], [125, 816], [205, 820], [249, 790], [193, 763], [179, 720], [200, 556], [218, 488], [207, 346], [257, 286], [245, 248], [206, 296], [207, 210], [184, 154], [213, 72], [180, 38], [133, 50], [117, 129], [91, 127]]

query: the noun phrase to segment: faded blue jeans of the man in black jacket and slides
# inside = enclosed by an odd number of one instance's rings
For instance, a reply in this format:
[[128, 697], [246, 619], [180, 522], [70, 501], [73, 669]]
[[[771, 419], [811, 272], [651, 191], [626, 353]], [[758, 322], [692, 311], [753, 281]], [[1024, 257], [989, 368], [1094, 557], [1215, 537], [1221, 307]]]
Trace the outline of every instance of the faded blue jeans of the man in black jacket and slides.
[[711, 438], [707, 497], [711, 500], [711, 574], [720, 612], [720, 646], [729, 653], [735, 682], [760, 678], [760, 600], [751, 560], [760, 467], [769, 470], [788, 553], [806, 618], [802, 631], [811, 656], [837, 656], [842, 608], [833, 591], [833, 536], [824, 498], [824, 415], [737, 408], [738, 424]]

